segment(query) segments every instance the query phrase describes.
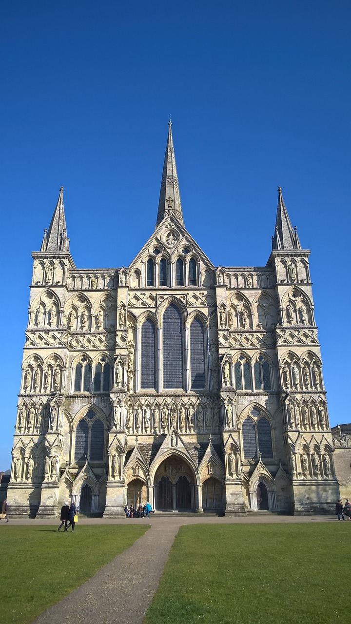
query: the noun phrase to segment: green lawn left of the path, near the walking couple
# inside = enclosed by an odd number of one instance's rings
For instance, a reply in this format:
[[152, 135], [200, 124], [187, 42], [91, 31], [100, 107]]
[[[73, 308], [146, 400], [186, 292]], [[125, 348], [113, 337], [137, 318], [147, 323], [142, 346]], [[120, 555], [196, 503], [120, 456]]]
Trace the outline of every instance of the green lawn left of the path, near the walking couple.
[[73, 535], [52, 526], [1, 527], [1, 622], [32, 622], [148, 528], [79, 525]]

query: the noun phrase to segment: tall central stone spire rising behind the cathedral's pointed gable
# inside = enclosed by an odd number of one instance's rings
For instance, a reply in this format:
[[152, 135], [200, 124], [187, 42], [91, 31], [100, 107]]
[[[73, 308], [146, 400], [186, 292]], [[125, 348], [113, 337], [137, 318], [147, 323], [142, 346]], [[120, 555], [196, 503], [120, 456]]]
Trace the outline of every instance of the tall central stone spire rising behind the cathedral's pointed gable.
[[177, 167], [175, 166], [175, 156], [172, 138], [172, 122], [168, 124], [168, 139], [166, 155], [162, 172], [162, 182], [159, 200], [159, 210], [157, 212], [156, 227], [167, 215], [174, 215], [184, 225], [182, 203], [180, 202], [179, 182]]

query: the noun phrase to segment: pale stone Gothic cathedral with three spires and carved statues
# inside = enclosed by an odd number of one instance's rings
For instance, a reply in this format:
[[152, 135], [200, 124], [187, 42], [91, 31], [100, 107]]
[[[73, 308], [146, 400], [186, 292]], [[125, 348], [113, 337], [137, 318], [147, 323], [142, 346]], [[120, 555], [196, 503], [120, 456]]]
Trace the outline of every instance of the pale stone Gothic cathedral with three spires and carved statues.
[[129, 266], [76, 268], [61, 188], [32, 253], [12, 514], [334, 511], [309, 253], [279, 188], [267, 264], [214, 266], [185, 229], [171, 122]]

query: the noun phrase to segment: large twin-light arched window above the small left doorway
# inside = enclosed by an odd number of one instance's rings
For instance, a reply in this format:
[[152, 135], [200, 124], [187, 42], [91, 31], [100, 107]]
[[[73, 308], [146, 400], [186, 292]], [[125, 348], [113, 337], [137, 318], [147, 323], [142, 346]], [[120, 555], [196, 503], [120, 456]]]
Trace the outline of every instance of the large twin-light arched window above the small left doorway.
[[89, 409], [77, 424], [74, 461], [86, 462], [87, 458], [92, 462], [104, 461], [104, 441], [104, 423]]

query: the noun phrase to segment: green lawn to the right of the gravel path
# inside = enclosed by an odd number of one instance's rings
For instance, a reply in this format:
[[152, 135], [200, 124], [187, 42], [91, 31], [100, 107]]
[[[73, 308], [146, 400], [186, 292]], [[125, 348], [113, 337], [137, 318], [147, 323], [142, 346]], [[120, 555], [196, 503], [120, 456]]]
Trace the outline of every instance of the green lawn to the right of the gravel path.
[[351, 522], [182, 527], [144, 624], [349, 620]]

